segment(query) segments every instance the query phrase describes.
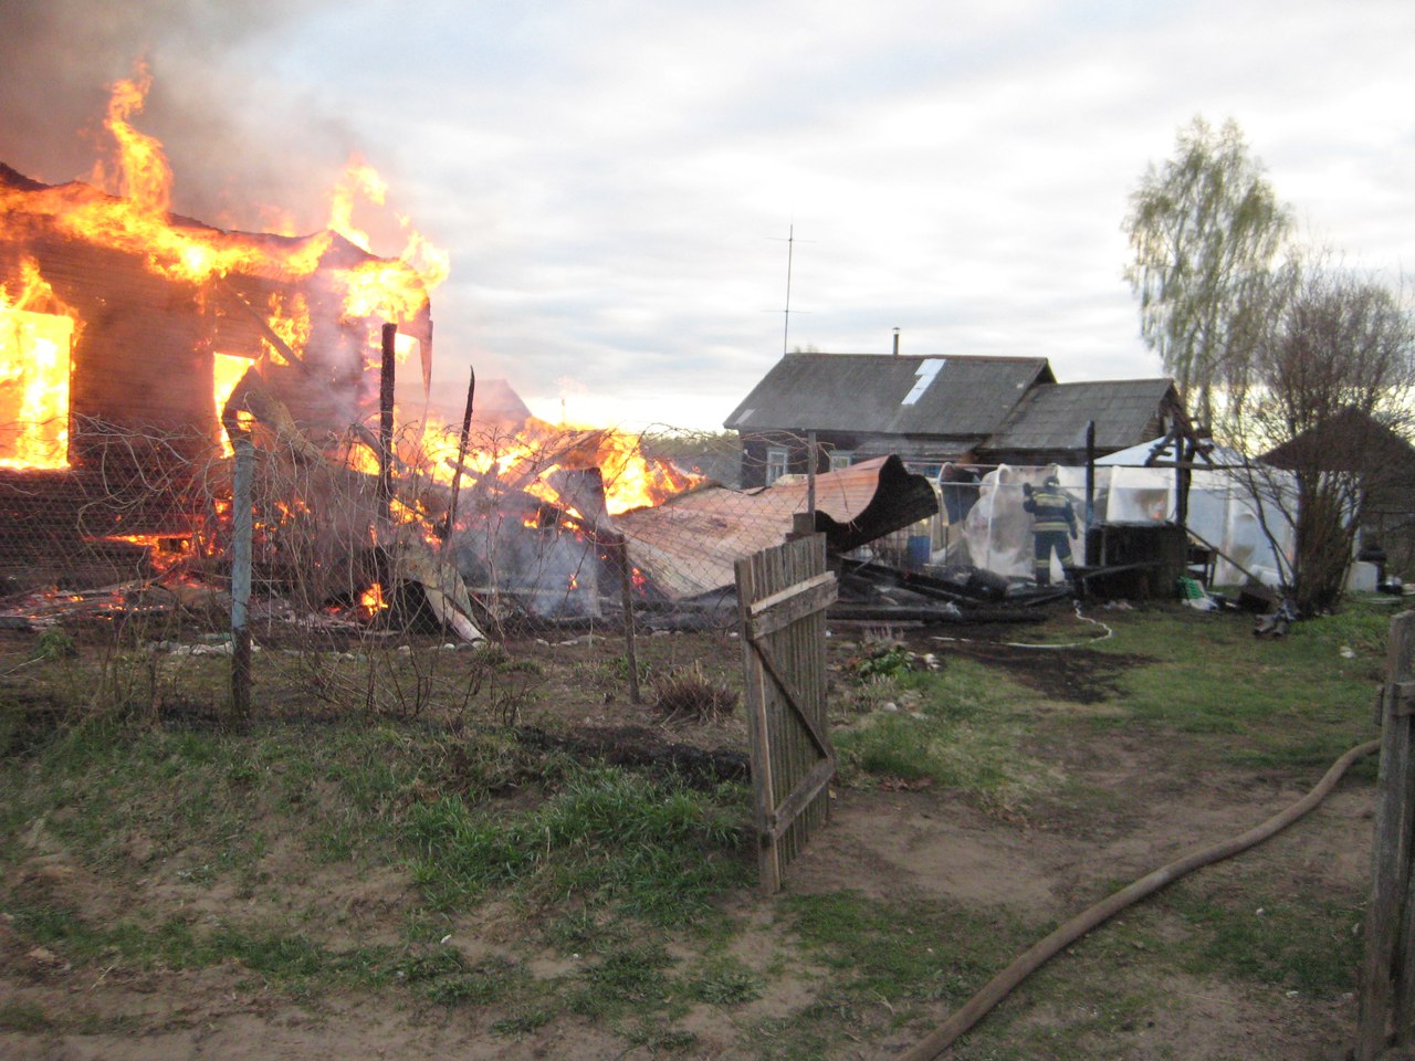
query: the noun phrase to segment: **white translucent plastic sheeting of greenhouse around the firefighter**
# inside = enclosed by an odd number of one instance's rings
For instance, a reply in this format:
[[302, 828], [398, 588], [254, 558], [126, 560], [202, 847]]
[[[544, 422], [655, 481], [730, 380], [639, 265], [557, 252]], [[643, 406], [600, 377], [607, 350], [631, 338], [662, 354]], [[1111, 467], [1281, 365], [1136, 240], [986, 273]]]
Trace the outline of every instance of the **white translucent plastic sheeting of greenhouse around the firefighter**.
[[[1143, 448], [1140, 460], [1148, 454]], [[1032, 515], [1022, 506], [1024, 482], [1041, 485], [1054, 472], [1075, 506], [1081, 535], [1071, 539], [1075, 563], [1085, 559], [1085, 468], [1084, 467], [1012, 467], [1000, 465], [978, 484], [978, 501], [961, 523], [961, 535], [948, 533], [948, 563], [971, 563], [1007, 577], [1032, 576]], [[1279, 472], [1281, 475], [1281, 472]], [[1269, 474], [1266, 478], [1272, 478]], [[1278, 488], [1282, 481], [1278, 481]], [[1114, 467], [1095, 468], [1097, 523], [1174, 522], [1177, 492], [1173, 468]], [[1276, 586], [1282, 560], [1264, 532], [1259, 514], [1268, 516], [1268, 530], [1278, 549], [1290, 562], [1292, 528], [1268, 501], [1264, 504], [1244, 485], [1238, 471], [1228, 468], [1196, 470], [1189, 488], [1191, 535], [1218, 550], [1214, 581], [1232, 586], [1249, 576]], [[1061, 577], [1053, 557], [1053, 581]]]

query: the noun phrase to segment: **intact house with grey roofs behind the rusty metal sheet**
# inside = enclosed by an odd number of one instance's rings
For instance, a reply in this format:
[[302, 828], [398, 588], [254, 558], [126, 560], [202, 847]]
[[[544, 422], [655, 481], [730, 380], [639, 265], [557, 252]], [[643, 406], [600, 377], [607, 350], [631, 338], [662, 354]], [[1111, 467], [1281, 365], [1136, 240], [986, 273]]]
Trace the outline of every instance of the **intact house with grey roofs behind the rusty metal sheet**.
[[1057, 383], [1046, 358], [787, 354], [726, 419], [741, 485], [886, 454], [937, 477], [945, 464], [1084, 463], [1163, 434], [1183, 403], [1169, 379]]

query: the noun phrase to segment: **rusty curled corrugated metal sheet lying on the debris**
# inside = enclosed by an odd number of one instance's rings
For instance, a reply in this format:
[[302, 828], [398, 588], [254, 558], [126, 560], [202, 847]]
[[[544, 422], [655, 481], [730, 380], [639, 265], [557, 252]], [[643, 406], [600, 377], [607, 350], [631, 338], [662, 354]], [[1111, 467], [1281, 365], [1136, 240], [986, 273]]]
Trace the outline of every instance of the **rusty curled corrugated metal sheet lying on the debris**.
[[[792, 516], [807, 511], [807, 491], [804, 480], [756, 491], [706, 487], [618, 515], [614, 525], [654, 587], [685, 600], [732, 586], [739, 559], [780, 545]], [[815, 505], [829, 549], [848, 552], [934, 515], [938, 498], [890, 456], [819, 475]]]

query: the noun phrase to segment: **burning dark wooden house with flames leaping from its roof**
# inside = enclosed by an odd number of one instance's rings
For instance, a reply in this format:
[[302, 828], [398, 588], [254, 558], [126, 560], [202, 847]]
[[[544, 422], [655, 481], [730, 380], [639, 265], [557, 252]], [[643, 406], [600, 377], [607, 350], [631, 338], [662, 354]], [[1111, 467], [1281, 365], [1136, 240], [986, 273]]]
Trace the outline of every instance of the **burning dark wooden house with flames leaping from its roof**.
[[[122, 194], [0, 164], [0, 576], [11, 590], [102, 584], [184, 557], [219, 572], [236, 437], [269, 458], [267, 553], [282, 553], [283, 525], [301, 514], [325, 536], [368, 540], [375, 502], [391, 504], [364, 489], [368, 468], [392, 463], [369, 426], [379, 361], [395, 354], [429, 378], [427, 293], [441, 273], [409, 252], [378, 257], [333, 222], [280, 236], [173, 214], [161, 146], [129, 123], [146, 88], [143, 74], [119, 82], [109, 105]], [[426, 245], [415, 233], [409, 248]], [[352, 504], [334, 511], [328, 497], [348, 485]], [[317, 569], [328, 557], [299, 559]]]

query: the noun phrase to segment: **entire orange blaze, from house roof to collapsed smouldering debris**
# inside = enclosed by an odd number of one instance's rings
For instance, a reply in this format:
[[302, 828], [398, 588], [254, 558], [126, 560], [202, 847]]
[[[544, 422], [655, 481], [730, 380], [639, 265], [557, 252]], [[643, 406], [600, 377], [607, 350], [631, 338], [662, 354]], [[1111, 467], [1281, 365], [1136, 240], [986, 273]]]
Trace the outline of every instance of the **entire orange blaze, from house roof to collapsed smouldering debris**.
[[[419, 366], [426, 388], [429, 291], [446, 279], [447, 255], [403, 216], [402, 252], [372, 253], [355, 214], [382, 207], [388, 188], [357, 157], [330, 192], [325, 228], [311, 236], [226, 232], [171, 214], [173, 173], [163, 146], [133, 124], [150, 83], [139, 68], [112, 88], [103, 124], [115, 153], [95, 168], [92, 184], [42, 185], [13, 171], [6, 178], [0, 167], [0, 470], [85, 468], [88, 451], [75, 439], [79, 406], [88, 403], [85, 416], [95, 405], [108, 413], [123, 395], [142, 395], [170, 378], [184, 393], [192, 390], [191, 379], [200, 381], [204, 412], [197, 419], [209, 433], [211, 460], [229, 457], [231, 436], [265, 431], [282, 443], [276, 450], [337, 467], [361, 482], [379, 481], [389, 465], [396, 494], [382, 501], [389, 533], [412, 528], [439, 555], [458, 535], [468, 542], [487, 505], [508, 498], [538, 533], [569, 528], [593, 550], [601, 532], [613, 533], [601, 526], [603, 516], [657, 505], [693, 485], [695, 477], [645, 457], [633, 434], [535, 419], [464, 439], [444, 424], [417, 424], [422, 412], [405, 416], [398, 409], [396, 451], [382, 453], [369, 426], [379, 412], [381, 332], [386, 323], [398, 325], [396, 361], [400, 369]], [[74, 265], [72, 248], [91, 249], [82, 266]], [[85, 279], [105, 272], [120, 274], [116, 294], [95, 293]], [[125, 314], [136, 323], [115, 332]], [[167, 341], [163, 356], [174, 364], [153, 364], [153, 330], [161, 332], [154, 341]], [[147, 356], [109, 358], [119, 347], [127, 351], [123, 356]], [[85, 378], [86, 364], [105, 359], [119, 368]], [[134, 365], [142, 376], [136, 382]], [[194, 407], [190, 395], [181, 400], [181, 410]], [[586, 472], [596, 484], [590, 498], [579, 492]], [[458, 487], [475, 504], [457, 506], [451, 518]], [[555, 515], [548, 519], [545, 512]], [[154, 567], [163, 569], [215, 547], [221, 533], [209, 530], [226, 516], [218, 505], [214, 522], [202, 518], [180, 538], [183, 549], [157, 547], [178, 540], [166, 530], [102, 536], [151, 547]], [[299, 521], [320, 518], [291, 494], [259, 516], [258, 536], [279, 552]], [[366, 543], [383, 546], [382, 536], [365, 529]], [[483, 535], [487, 542], [494, 536]], [[474, 566], [485, 567], [492, 586], [504, 576], [492, 556], [499, 547], [477, 546]], [[576, 591], [583, 583], [570, 572], [559, 586]], [[378, 584], [364, 587], [365, 614], [388, 608], [382, 594]]]

